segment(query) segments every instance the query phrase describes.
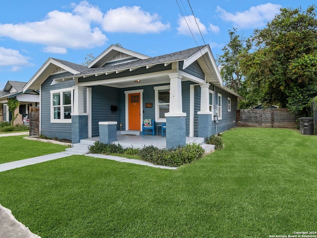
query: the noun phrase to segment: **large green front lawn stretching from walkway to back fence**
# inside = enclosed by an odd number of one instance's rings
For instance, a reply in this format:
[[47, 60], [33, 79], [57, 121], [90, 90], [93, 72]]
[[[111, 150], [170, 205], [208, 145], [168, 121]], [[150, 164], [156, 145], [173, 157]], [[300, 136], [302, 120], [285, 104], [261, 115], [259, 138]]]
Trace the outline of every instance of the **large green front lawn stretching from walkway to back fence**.
[[317, 228], [317, 137], [235, 128], [175, 171], [71, 156], [0, 173], [0, 203], [42, 238], [266, 238]]

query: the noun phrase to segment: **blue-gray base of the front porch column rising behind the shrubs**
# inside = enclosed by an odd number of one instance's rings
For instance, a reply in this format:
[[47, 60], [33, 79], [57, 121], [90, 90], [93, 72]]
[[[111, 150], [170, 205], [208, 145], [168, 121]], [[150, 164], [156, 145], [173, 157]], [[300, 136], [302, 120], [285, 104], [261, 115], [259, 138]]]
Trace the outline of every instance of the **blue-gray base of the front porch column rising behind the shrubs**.
[[186, 145], [186, 117], [166, 117], [166, 149]]

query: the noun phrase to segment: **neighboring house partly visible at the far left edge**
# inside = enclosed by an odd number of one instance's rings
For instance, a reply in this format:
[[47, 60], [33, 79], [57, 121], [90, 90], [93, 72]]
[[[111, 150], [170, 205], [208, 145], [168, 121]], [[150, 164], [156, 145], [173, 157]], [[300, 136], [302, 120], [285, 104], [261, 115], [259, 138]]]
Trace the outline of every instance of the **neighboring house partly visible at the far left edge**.
[[40, 103], [40, 95], [38, 91], [26, 90], [23, 93], [25, 82], [7, 81], [3, 91], [0, 91], [0, 121], [10, 121], [12, 115], [7, 105], [9, 98], [16, 98], [20, 106], [14, 111], [14, 115], [18, 114], [15, 124], [23, 124], [23, 118], [29, 118], [29, 107], [38, 107]]

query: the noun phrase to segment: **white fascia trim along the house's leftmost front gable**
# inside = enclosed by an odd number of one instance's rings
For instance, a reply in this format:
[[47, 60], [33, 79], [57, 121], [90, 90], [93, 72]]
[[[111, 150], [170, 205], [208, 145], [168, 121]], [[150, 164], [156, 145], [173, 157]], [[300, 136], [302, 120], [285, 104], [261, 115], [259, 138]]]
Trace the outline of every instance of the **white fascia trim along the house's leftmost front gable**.
[[80, 73], [73, 68], [70, 68], [56, 60], [53, 60], [52, 58], [49, 58], [23, 87], [23, 93], [28, 89], [38, 90], [39, 86], [51, 75], [54, 67], [56, 66], [61, 67], [72, 74]]

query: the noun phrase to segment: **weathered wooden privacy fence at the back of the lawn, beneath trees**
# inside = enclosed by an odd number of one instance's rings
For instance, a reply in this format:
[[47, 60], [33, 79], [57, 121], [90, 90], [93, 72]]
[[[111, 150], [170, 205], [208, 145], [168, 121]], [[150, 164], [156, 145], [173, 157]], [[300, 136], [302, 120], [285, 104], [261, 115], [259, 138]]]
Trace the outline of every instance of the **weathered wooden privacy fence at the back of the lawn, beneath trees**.
[[294, 128], [296, 119], [286, 108], [237, 110], [237, 126]]

